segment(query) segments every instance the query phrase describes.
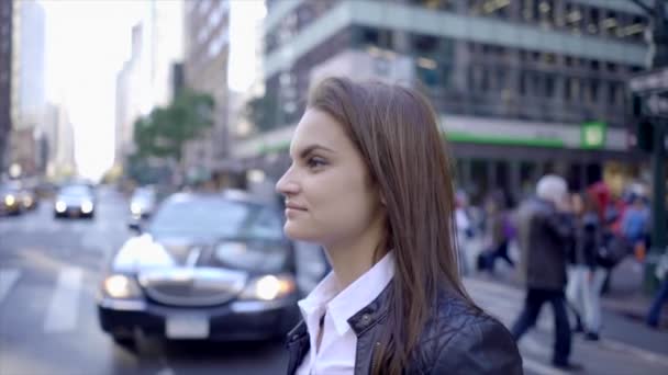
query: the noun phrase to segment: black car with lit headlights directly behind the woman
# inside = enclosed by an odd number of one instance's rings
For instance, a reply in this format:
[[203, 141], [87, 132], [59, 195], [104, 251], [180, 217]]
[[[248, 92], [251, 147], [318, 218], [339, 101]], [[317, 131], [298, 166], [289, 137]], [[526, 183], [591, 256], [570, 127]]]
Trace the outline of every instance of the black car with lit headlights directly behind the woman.
[[122, 344], [137, 331], [165, 339], [282, 338], [299, 317], [294, 271], [275, 207], [178, 193], [111, 260], [98, 296], [100, 325]]

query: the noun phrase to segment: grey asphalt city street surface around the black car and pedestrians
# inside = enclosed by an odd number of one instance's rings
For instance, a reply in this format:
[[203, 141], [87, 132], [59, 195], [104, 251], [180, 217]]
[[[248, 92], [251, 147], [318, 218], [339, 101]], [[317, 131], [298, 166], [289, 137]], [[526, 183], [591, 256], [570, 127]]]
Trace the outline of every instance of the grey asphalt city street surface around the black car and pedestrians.
[[[131, 234], [127, 203], [100, 188], [92, 220], [53, 218], [53, 203], [18, 217], [0, 217], [0, 374], [279, 374], [280, 343], [163, 343], [141, 340], [141, 356], [115, 346], [98, 327], [94, 298], [105, 260]], [[319, 268], [313, 249], [302, 264]], [[310, 253], [309, 253], [310, 252]], [[474, 299], [509, 326], [523, 292], [468, 279]], [[606, 311], [603, 338], [574, 341], [574, 362], [587, 374], [666, 374], [668, 334]], [[548, 365], [552, 318], [521, 342], [526, 374], [561, 374]]]

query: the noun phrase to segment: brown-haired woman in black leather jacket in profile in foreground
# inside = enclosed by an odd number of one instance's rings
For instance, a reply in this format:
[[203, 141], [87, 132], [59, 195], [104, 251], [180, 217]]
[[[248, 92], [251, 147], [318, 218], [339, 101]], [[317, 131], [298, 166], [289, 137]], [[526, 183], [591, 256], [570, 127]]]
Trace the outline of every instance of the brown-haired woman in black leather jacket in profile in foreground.
[[286, 234], [333, 272], [299, 303], [289, 374], [521, 374], [508, 330], [457, 272], [449, 162], [416, 92], [329, 78], [277, 183]]

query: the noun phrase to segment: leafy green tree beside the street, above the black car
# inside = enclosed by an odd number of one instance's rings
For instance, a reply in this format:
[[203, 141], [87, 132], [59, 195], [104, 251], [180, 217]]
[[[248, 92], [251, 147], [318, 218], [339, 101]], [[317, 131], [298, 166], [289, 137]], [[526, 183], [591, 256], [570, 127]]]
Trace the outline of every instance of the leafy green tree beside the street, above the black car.
[[183, 145], [213, 125], [213, 98], [183, 90], [167, 107], [156, 107], [134, 126], [135, 158], [181, 161]]

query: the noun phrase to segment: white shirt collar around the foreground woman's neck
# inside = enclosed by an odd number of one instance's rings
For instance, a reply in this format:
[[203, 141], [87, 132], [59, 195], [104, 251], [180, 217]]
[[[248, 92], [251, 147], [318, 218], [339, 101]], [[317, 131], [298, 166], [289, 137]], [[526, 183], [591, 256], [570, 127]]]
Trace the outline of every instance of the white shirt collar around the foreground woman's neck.
[[[339, 336], [350, 329], [348, 319], [374, 302], [394, 276], [394, 254], [388, 252], [378, 263], [337, 294], [338, 280], [330, 272], [307, 298], [298, 303], [303, 318], [325, 310]], [[313, 334], [313, 332], [310, 332]]]

